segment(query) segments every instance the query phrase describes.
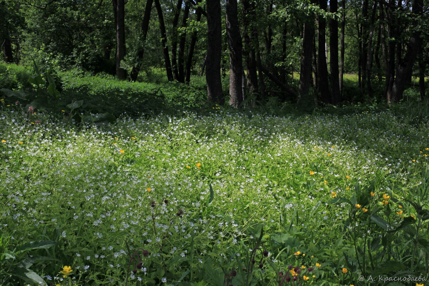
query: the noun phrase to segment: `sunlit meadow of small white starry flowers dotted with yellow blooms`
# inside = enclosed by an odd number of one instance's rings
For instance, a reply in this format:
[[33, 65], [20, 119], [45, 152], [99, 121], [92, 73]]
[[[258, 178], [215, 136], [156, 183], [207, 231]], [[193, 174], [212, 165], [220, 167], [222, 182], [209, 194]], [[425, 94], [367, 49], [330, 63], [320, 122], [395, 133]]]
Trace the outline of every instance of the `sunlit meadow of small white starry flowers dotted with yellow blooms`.
[[213, 105], [109, 123], [8, 100], [2, 286], [428, 277], [427, 102]]

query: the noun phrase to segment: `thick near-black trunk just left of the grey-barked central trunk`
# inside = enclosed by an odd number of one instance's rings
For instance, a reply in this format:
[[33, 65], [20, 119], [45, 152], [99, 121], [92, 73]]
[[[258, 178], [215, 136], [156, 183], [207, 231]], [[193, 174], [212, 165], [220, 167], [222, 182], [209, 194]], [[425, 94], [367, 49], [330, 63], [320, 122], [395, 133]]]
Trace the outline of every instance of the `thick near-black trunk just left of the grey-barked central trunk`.
[[223, 104], [221, 52], [221, 1], [207, 0], [207, 56], [205, 64], [205, 79], [207, 82], [208, 101]]

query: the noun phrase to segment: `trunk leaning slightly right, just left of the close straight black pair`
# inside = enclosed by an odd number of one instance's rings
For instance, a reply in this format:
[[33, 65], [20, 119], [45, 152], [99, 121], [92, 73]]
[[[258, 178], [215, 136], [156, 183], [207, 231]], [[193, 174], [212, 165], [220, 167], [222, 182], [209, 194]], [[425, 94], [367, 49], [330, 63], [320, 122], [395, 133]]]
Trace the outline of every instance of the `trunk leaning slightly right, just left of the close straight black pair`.
[[301, 67], [299, 71], [298, 102], [306, 97], [310, 91], [313, 62], [314, 16], [308, 16], [304, 23], [304, 37], [302, 40]]

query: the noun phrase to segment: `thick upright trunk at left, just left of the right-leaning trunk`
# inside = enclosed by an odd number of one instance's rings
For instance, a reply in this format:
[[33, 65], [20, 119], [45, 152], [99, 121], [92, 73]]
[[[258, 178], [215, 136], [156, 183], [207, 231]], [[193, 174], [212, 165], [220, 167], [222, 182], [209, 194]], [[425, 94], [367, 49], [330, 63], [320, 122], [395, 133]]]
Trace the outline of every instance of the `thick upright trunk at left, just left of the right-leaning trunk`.
[[127, 78], [127, 70], [121, 68], [121, 61], [125, 58], [125, 2], [113, 0], [116, 24], [116, 76], [118, 79]]

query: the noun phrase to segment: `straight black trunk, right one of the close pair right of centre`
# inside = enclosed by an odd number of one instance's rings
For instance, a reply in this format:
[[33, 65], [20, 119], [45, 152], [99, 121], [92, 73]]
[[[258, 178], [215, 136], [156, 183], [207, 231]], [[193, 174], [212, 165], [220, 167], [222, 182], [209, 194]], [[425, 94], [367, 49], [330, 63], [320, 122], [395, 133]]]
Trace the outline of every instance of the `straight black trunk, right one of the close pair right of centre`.
[[[331, 0], [330, 2], [331, 13], [338, 12], [338, 0]], [[340, 102], [340, 80], [338, 74], [338, 21], [335, 18], [330, 20], [330, 40], [329, 40], [329, 53], [330, 53], [330, 71], [331, 71], [331, 102], [338, 104]]]

